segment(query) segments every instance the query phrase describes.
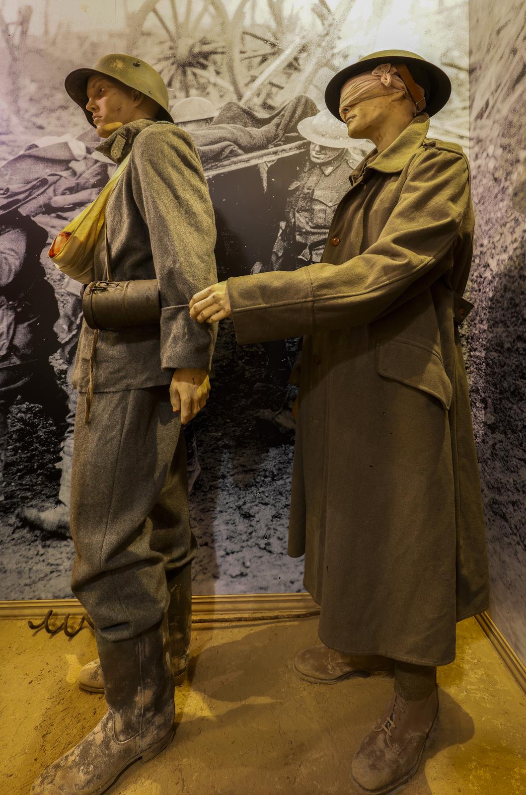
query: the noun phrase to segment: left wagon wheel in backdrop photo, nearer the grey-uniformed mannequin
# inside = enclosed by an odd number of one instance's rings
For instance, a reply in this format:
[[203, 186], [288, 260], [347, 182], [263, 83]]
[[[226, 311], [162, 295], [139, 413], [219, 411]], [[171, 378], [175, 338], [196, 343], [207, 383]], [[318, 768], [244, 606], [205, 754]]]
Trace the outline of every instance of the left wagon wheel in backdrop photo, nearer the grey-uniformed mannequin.
[[232, 99], [227, 76], [228, 14], [221, 0], [145, 0], [128, 14], [128, 52], [161, 73], [174, 99]]

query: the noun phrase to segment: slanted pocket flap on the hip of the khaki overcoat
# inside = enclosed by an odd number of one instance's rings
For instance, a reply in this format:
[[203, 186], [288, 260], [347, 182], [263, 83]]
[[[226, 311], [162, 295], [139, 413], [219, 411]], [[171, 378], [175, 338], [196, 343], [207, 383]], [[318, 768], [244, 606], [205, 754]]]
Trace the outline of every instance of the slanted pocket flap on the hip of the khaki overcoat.
[[430, 348], [400, 339], [377, 342], [377, 371], [437, 397], [445, 409], [451, 406], [453, 387], [439, 355]]

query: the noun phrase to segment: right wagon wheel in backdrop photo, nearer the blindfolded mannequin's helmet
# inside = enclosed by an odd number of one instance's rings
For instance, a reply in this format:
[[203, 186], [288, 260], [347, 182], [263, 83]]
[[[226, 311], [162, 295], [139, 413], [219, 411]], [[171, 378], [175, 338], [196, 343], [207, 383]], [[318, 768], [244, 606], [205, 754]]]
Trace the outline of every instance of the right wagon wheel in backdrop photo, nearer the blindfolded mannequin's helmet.
[[332, 68], [352, 0], [241, 0], [230, 25], [228, 67], [238, 100], [271, 111]]

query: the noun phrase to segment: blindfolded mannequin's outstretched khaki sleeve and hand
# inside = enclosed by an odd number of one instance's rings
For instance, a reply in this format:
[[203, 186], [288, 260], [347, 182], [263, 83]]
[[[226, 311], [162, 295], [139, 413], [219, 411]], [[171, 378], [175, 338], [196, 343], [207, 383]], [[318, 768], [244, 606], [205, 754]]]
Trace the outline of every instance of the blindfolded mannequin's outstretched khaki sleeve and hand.
[[[377, 242], [342, 265], [319, 262], [292, 273], [257, 273], [228, 281], [228, 308], [239, 343], [284, 339], [369, 324], [451, 266], [444, 257], [468, 207], [461, 155], [427, 149], [412, 166], [400, 200]], [[409, 292], [411, 289], [411, 292]], [[206, 291], [205, 291], [206, 292]], [[211, 301], [212, 293], [216, 300]], [[216, 289], [195, 296], [201, 322], [220, 320]], [[201, 293], [203, 295], [203, 293]], [[207, 303], [205, 304], [205, 301]]]

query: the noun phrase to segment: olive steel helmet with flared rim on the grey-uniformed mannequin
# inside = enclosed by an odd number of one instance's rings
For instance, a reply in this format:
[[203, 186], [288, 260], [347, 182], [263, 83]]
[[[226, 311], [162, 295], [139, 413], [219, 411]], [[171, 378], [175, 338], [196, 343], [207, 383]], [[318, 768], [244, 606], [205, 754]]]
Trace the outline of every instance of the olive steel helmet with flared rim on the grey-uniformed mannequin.
[[95, 127], [93, 116], [86, 110], [87, 103], [87, 80], [91, 75], [99, 73], [114, 80], [120, 80], [125, 86], [136, 88], [147, 97], [154, 99], [159, 105], [157, 118], [164, 121], [173, 122], [168, 109], [168, 88], [159, 72], [145, 60], [136, 58], [133, 55], [124, 55], [121, 52], [112, 52], [110, 55], [99, 58], [95, 66], [91, 69], [74, 69], [64, 80], [66, 91], [72, 100], [79, 105], [84, 112], [88, 122]]

